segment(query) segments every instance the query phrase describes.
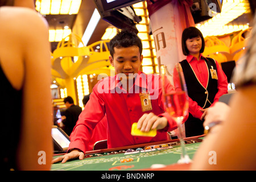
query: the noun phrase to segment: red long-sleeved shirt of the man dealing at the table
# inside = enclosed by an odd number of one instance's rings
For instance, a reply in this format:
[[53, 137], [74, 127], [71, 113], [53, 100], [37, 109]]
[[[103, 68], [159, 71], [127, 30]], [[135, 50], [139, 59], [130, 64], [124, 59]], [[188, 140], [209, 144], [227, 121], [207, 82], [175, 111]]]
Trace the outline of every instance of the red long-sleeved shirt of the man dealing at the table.
[[[166, 132], [176, 129], [177, 125], [170, 115], [165, 113], [160, 76], [146, 75], [142, 72], [138, 74], [128, 93], [122, 88], [118, 75], [107, 77], [94, 86], [90, 100], [71, 134], [69, 150], [79, 148], [85, 152], [93, 128], [105, 114], [108, 120], [108, 148], [167, 140]], [[169, 90], [173, 89], [170, 83], [166, 86]], [[142, 111], [140, 98], [142, 92], [150, 93], [152, 110]], [[131, 125], [138, 122], [144, 113], [150, 112], [166, 117], [167, 127], [158, 130], [154, 138], [132, 136]]]

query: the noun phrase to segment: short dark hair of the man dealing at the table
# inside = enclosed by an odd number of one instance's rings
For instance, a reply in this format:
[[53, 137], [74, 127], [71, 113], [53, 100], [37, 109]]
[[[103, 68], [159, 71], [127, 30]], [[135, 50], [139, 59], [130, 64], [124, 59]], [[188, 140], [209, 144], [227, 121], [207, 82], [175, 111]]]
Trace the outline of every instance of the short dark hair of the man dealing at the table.
[[121, 47], [131, 47], [137, 46], [139, 47], [139, 52], [142, 53], [142, 42], [138, 35], [130, 30], [130, 29], [123, 29], [119, 31], [117, 35], [114, 36], [109, 43], [109, 52], [110, 55], [113, 57], [114, 55], [114, 47], [121, 48]]

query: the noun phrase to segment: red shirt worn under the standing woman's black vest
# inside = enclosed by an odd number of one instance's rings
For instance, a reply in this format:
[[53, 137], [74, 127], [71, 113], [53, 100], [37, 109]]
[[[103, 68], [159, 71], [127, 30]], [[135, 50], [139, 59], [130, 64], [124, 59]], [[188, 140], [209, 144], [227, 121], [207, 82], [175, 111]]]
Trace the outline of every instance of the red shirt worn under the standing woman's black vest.
[[[207, 88], [209, 72], [202, 55], [200, 54], [199, 61], [197, 61], [196, 57], [192, 55], [188, 55], [187, 61], [191, 65], [198, 80], [201, 82], [204, 88]], [[220, 65], [218, 65], [217, 61], [216, 61], [216, 67], [217, 67], [217, 76], [218, 76], [218, 81], [217, 81], [218, 92], [214, 97], [214, 102], [211, 106], [213, 106], [215, 102], [218, 102], [218, 99], [223, 94], [228, 93], [228, 80], [226, 78], [225, 73], [222, 71]], [[191, 98], [189, 98], [189, 109], [188, 109], [189, 113], [191, 113], [193, 117], [200, 119], [203, 112], [200, 111], [199, 109], [203, 109], [203, 108], [197, 105], [196, 101], [193, 101]]]

